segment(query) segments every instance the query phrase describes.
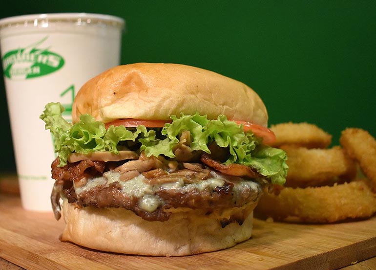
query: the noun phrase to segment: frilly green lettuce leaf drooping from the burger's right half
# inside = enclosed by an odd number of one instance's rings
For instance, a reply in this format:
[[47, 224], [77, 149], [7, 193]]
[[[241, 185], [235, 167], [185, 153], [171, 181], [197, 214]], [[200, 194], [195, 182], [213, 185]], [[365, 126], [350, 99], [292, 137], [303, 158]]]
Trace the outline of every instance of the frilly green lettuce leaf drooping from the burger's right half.
[[[219, 115], [217, 120], [208, 120], [206, 116], [200, 116], [198, 113], [194, 115], [182, 113], [180, 118], [173, 115], [171, 119], [172, 123], [166, 124], [162, 130], [162, 134], [167, 135], [173, 142], [168, 145], [169, 153], [172, 153], [172, 147], [179, 142], [178, 135], [188, 130], [193, 137], [189, 145], [192, 150], [201, 150], [210, 154], [208, 145], [215, 142], [220, 147], [229, 148], [230, 158], [224, 162], [225, 164], [247, 165], [269, 178], [272, 183], [285, 183], [288, 171], [286, 152], [262, 145], [261, 138], [251, 132], [244, 133], [241, 125], [229, 121], [225, 115]], [[163, 154], [163, 151], [159, 153]]]

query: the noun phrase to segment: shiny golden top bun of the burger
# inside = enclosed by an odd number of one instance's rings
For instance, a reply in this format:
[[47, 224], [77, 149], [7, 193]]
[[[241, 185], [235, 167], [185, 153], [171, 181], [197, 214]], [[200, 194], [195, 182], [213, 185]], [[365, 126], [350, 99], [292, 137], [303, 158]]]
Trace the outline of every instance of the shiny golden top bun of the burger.
[[89, 80], [75, 98], [72, 119], [89, 113], [104, 123], [167, 120], [181, 112], [268, 124], [264, 103], [247, 85], [198, 67], [150, 63], [113, 67]]

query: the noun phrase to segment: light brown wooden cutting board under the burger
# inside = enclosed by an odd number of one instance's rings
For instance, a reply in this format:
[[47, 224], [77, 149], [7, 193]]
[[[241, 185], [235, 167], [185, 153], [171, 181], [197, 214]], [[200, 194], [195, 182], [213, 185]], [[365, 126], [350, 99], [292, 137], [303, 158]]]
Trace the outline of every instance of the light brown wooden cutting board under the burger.
[[254, 221], [252, 239], [187, 257], [113, 254], [59, 241], [63, 221], [0, 194], [0, 257], [26, 269], [337, 269], [376, 256], [376, 217], [334, 225]]

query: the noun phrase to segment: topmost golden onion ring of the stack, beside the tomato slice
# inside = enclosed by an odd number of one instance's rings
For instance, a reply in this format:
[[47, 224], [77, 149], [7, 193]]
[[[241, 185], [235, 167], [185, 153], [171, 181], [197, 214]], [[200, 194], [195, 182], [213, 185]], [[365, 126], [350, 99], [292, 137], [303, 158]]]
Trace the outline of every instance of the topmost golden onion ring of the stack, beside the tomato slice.
[[276, 137], [273, 147], [293, 144], [307, 148], [326, 148], [332, 143], [332, 135], [309, 123], [281, 123], [270, 128]]

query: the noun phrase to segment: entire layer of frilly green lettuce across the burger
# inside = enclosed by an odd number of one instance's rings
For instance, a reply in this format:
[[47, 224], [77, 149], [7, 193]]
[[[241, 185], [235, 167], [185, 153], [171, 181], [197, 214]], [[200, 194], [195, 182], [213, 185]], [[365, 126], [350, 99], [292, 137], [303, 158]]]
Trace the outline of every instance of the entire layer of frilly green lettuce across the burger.
[[139, 143], [140, 150], [145, 151], [148, 157], [164, 155], [174, 158], [173, 149], [179, 143], [179, 136], [183, 131], [189, 131], [192, 137], [189, 147], [193, 151], [210, 154], [208, 145], [214, 142], [228, 148], [230, 156], [225, 164], [250, 166], [275, 184], [283, 184], [286, 179], [286, 153], [263, 145], [262, 138], [251, 132], [245, 133], [241, 125], [229, 121], [225, 115], [209, 120], [206, 115], [182, 113], [179, 118], [172, 115], [172, 123], [165, 124], [162, 130], [145, 126], [129, 130], [124, 126], [110, 126], [106, 129], [104, 123], [96, 121], [89, 114], [81, 115], [80, 122], [71, 125], [63, 119], [63, 110], [61, 104], [49, 103], [40, 116], [45, 122], [45, 128], [54, 135], [59, 166], [66, 165], [67, 158], [74, 152], [89, 154], [93, 151], [110, 151], [117, 154], [122, 141]]

